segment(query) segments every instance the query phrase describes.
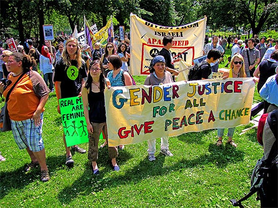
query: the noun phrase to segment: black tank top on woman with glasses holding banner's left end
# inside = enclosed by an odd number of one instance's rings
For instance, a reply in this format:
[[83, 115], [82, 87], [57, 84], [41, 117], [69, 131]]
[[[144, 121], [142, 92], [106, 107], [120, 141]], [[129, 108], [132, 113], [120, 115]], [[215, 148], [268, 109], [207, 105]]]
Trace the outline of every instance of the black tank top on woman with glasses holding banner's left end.
[[106, 122], [104, 92], [94, 93], [90, 90], [88, 94], [88, 103], [90, 122]]

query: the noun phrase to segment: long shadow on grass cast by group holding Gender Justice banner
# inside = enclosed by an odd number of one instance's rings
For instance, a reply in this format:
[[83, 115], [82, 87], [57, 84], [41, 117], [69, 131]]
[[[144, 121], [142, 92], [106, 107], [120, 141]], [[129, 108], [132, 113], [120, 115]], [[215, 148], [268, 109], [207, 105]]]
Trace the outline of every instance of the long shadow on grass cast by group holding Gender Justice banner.
[[[156, 161], [150, 162], [146, 156], [140, 163], [132, 168], [125, 170], [124, 174], [120, 172], [112, 173], [110, 166], [110, 159], [108, 157], [107, 148], [99, 149], [98, 166], [105, 167], [101, 170], [99, 176], [94, 176], [91, 173], [89, 165], [86, 170], [72, 185], [65, 187], [59, 194], [58, 198], [61, 203], [69, 204], [74, 198], [81, 195], [89, 195], [94, 192], [103, 191], [104, 189], [125, 185], [126, 183], [137, 183], [147, 177], [161, 176], [170, 174], [172, 171], [179, 171], [187, 168], [194, 168], [196, 166], [203, 166], [206, 164], [215, 164], [219, 168], [223, 168], [230, 163], [238, 163], [243, 161], [244, 152], [230, 145], [216, 146], [210, 144], [208, 151], [210, 154], [200, 155], [195, 159], [182, 159], [177, 161], [172, 166], [163, 166], [165, 156], [158, 154]], [[118, 165], [121, 167], [131, 155], [125, 150], [119, 151], [117, 158]], [[111, 172], [109, 176], [104, 173]]]

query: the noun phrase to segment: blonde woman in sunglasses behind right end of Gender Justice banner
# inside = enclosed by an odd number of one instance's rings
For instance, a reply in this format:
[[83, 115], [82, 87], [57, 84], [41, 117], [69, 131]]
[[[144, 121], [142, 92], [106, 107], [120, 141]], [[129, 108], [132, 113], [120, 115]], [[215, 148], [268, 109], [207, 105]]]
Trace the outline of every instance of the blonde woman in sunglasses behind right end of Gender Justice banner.
[[[246, 78], [245, 70], [244, 70], [244, 60], [241, 54], [236, 53], [230, 61], [230, 70], [228, 72], [224, 72], [222, 78]], [[233, 141], [233, 135], [236, 130], [236, 127], [228, 128], [228, 141], [227, 144], [233, 147], [237, 147], [237, 144]], [[216, 142], [217, 146], [222, 145], [222, 137], [224, 135], [224, 128], [217, 129], [218, 141]]]

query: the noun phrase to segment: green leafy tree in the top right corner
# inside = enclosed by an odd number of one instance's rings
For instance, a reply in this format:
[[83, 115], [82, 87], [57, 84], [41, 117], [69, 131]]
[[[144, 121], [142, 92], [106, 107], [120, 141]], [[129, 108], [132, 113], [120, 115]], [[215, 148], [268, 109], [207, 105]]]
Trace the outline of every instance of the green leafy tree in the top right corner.
[[[276, 0], [200, 0], [199, 14], [207, 15], [212, 29], [244, 27], [258, 34], [272, 16], [277, 17]], [[200, 16], [199, 16], [200, 17]]]

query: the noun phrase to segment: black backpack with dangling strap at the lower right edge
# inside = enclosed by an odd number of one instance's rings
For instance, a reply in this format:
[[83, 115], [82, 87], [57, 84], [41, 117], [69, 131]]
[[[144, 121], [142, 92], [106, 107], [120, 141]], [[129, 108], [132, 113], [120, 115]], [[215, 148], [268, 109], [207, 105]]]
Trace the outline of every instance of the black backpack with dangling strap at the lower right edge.
[[[249, 193], [238, 201], [236, 199], [230, 199], [234, 206], [244, 208], [241, 202], [257, 192], [256, 200], [261, 201], [261, 207], [278, 207], [277, 118], [278, 110], [268, 113], [264, 126], [264, 131], [266, 131], [266, 133], [264, 134], [267, 136], [267, 140], [269, 142], [274, 141], [273, 145], [271, 146], [268, 156], [265, 156], [267, 153], [264, 153], [264, 156], [257, 161], [251, 176], [251, 187]], [[272, 133], [269, 133], [270, 131]], [[266, 145], [269, 144], [264, 144], [264, 146]]]

